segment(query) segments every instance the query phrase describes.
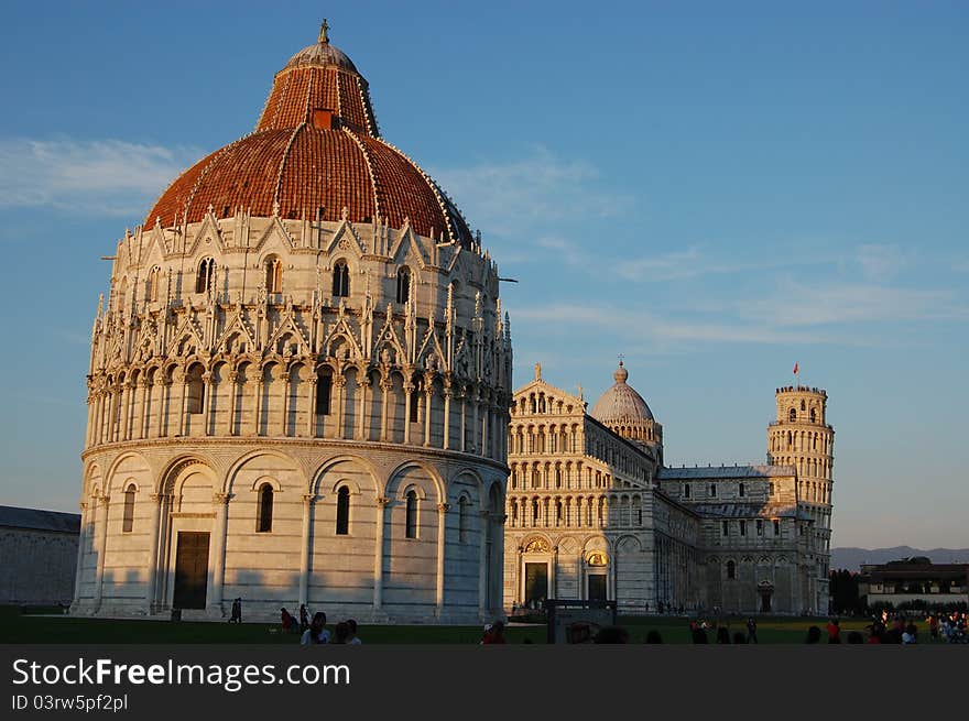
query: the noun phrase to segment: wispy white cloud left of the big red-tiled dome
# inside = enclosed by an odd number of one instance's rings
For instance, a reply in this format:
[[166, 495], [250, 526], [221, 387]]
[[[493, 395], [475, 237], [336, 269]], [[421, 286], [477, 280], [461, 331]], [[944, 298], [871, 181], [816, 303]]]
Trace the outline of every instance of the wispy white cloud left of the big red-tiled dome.
[[121, 140], [0, 139], [0, 207], [138, 218], [200, 155]]

